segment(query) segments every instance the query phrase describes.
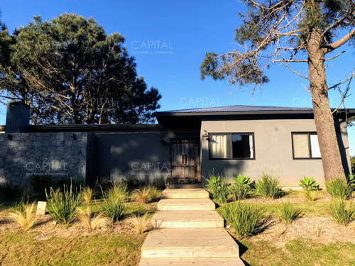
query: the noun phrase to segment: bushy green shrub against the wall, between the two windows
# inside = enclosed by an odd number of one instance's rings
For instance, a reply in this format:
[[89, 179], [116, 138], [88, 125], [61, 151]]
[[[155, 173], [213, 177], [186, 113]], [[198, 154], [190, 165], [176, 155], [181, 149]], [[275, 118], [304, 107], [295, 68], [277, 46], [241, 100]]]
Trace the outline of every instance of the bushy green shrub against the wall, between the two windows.
[[256, 193], [269, 199], [280, 196], [280, 181], [272, 174], [263, 173], [263, 176], [256, 183]]

